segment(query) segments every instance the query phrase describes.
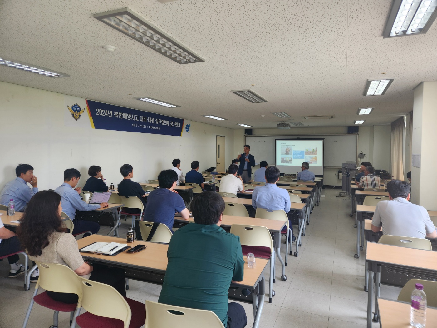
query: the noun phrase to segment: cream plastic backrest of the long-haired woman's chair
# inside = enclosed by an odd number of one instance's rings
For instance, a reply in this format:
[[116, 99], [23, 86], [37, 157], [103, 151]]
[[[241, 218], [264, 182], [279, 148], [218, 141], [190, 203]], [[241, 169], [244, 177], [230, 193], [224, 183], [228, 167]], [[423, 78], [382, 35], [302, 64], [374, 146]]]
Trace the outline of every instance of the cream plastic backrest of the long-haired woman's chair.
[[67, 265], [35, 261], [39, 269], [38, 287], [51, 292], [73, 293], [82, 299], [82, 286], [79, 276]]

